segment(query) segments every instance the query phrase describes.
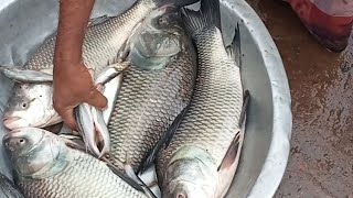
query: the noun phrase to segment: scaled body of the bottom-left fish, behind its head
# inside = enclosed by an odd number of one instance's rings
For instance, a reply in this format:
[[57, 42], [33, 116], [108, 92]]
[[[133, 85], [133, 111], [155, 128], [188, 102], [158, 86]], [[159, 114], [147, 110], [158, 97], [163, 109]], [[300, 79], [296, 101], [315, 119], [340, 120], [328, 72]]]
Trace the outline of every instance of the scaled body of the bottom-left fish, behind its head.
[[43, 179], [20, 177], [17, 185], [28, 198], [147, 197], [93, 156], [74, 150], [71, 150], [68, 155], [68, 164], [60, 174]]

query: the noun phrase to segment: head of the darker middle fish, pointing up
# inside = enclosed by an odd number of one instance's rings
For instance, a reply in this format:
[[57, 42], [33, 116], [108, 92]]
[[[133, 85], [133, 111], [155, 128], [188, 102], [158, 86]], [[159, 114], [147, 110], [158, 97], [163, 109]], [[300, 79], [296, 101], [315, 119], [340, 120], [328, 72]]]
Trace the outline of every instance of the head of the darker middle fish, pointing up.
[[165, 6], [146, 16], [131, 38], [129, 58], [143, 69], [163, 69], [183, 50], [182, 18], [178, 9]]

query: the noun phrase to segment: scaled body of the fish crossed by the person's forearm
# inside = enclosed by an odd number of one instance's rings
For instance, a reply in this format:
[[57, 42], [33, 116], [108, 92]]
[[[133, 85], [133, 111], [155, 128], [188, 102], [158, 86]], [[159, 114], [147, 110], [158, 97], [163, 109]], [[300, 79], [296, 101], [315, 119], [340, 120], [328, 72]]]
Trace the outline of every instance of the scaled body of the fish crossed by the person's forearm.
[[[83, 43], [83, 59], [87, 68], [98, 74], [108, 63], [116, 61], [118, 52], [131, 31], [149, 12], [157, 8], [152, 0], [138, 1], [126, 12], [101, 23], [89, 25]], [[24, 64], [32, 70], [53, 69], [56, 34], [50, 37]]]

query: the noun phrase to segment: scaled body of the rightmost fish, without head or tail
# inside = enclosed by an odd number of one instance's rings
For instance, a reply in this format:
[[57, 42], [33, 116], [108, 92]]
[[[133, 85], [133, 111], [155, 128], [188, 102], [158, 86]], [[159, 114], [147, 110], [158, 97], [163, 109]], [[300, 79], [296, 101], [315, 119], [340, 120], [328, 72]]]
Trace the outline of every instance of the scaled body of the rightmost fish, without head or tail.
[[217, 29], [193, 36], [199, 55], [199, 73], [190, 108], [167, 150], [158, 155], [159, 178], [169, 160], [183, 146], [207, 151], [221, 165], [238, 133], [243, 108], [239, 67], [228, 57]]

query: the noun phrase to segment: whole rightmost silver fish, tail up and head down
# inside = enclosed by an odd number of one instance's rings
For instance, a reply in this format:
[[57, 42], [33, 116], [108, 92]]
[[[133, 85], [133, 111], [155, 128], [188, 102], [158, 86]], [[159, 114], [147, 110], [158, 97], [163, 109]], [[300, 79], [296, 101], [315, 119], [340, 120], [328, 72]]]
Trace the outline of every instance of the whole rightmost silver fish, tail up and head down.
[[[223, 43], [218, 0], [202, 0], [201, 11], [183, 11], [197, 48], [199, 73], [183, 120], [168, 147], [158, 153], [158, 179], [162, 197], [224, 197], [244, 138], [247, 102], [239, 65]], [[233, 47], [239, 47], [236, 38]]]

